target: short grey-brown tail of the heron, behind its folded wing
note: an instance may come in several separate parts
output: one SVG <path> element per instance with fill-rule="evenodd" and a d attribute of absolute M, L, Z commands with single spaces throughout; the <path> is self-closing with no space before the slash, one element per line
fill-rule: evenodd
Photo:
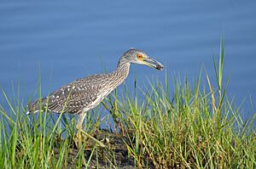
<path fill-rule="evenodd" d="M 26 105 L 27 111 L 26 114 L 32 114 L 32 113 L 37 113 L 39 110 L 44 110 L 44 107 L 47 104 L 47 99 L 38 99 L 34 102 L 28 103 Z"/>

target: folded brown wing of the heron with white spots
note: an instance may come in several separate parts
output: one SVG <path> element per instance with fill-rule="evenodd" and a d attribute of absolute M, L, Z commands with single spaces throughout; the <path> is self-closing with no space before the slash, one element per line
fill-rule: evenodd
<path fill-rule="evenodd" d="M 53 112 L 79 113 L 90 110 L 108 82 L 105 75 L 89 76 L 71 82 L 49 95 L 48 110 Z"/>

